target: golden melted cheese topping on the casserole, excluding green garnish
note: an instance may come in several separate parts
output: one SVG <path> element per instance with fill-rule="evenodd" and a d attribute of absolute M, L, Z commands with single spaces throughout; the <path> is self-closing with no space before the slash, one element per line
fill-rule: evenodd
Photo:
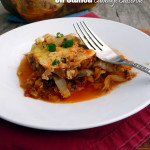
<path fill-rule="evenodd" d="M 73 39 L 73 46 L 64 48 L 62 45 L 63 41 L 71 39 Z M 56 51 L 49 52 L 46 46 L 47 43 L 55 44 Z M 36 43 L 33 44 L 31 51 L 27 55 L 33 56 L 45 69 L 76 68 L 80 67 L 83 60 L 95 55 L 93 50 L 84 49 L 79 44 L 83 43 L 74 34 L 69 34 L 61 38 L 46 34 L 36 39 Z M 60 61 L 59 65 L 52 65 L 55 59 Z"/>

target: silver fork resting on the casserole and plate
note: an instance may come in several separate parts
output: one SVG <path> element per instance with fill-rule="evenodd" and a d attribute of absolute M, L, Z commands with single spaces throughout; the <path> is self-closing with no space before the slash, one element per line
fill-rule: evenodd
<path fill-rule="evenodd" d="M 140 64 L 127 61 L 116 54 L 108 45 L 106 45 L 84 21 L 73 24 L 77 34 L 89 49 L 94 49 L 96 56 L 104 62 L 112 64 L 122 64 L 135 67 L 150 75 L 150 69 Z"/>

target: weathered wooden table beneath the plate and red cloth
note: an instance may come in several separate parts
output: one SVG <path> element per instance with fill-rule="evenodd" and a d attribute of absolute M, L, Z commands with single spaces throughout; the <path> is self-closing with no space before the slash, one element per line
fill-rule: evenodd
<path fill-rule="evenodd" d="M 135 28 L 150 29 L 150 0 L 143 0 L 142 4 L 117 3 L 114 7 L 111 7 L 111 3 L 97 4 L 90 11 L 104 19 L 125 23 Z M 24 25 L 7 21 L 9 15 L 0 2 L 0 35 Z M 138 150 L 150 150 L 150 140 L 140 146 Z"/>

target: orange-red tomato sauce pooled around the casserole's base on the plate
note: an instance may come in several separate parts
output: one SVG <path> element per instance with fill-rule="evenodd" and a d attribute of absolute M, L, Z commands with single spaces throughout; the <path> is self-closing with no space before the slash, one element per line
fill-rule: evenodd
<path fill-rule="evenodd" d="M 29 76 L 33 73 L 30 64 L 26 57 L 24 57 L 20 63 L 20 66 L 17 71 L 17 75 L 19 77 L 20 86 L 23 88 L 24 91 L 26 91 L 25 82 L 29 78 Z M 95 89 L 94 84 L 98 84 L 99 88 Z M 112 88 L 116 87 L 118 83 L 111 84 Z M 85 100 L 91 100 L 93 98 L 100 97 L 106 93 L 102 92 L 103 83 L 88 83 L 85 87 L 82 87 L 80 90 L 75 90 L 72 92 L 71 96 L 68 98 L 62 98 L 60 95 L 56 95 L 49 99 L 41 99 L 47 102 L 53 102 L 53 103 L 75 103 L 75 102 L 81 102 Z M 29 96 L 30 97 L 30 96 Z M 33 97 L 34 98 L 34 97 Z M 39 98 L 37 98 L 39 99 Z"/>

